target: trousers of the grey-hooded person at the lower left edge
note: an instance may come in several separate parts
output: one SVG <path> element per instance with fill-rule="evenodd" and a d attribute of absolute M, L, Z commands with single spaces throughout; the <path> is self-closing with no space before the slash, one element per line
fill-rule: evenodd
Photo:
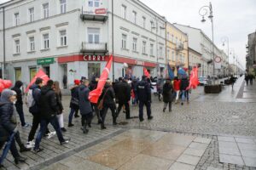
<path fill-rule="evenodd" d="M 0 165 L 3 163 L 3 160 L 5 159 L 5 157 L 7 156 L 9 150 L 11 151 L 12 155 L 14 156 L 14 158 L 20 156 L 19 152 L 16 148 L 16 144 L 15 144 L 15 134 L 12 134 L 11 136 L 9 136 L 9 141 L 6 144 L 6 146 L 3 149 L 3 154 L 0 157 Z M 0 141 L 0 150 L 3 148 L 3 145 L 5 144 L 6 141 Z"/>

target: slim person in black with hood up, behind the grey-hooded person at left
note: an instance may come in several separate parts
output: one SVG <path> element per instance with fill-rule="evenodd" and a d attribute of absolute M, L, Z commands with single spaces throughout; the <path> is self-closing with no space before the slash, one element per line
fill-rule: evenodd
<path fill-rule="evenodd" d="M 15 82 L 15 87 L 12 88 L 12 90 L 14 90 L 17 94 L 17 101 L 15 103 L 15 107 L 16 107 L 16 111 L 20 116 L 21 127 L 29 127 L 29 125 L 25 122 L 25 117 L 24 117 L 22 92 L 20 90 L 22 85 L 23 85 L 23 82 L 17 81 Z"/>

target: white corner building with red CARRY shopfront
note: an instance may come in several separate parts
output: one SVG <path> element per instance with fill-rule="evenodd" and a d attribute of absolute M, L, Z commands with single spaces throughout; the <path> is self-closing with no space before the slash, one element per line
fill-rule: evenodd
<path fill-rule="evenodd" d="M 141 77 L 143 67 L 158 76 L 166 65 L 166 20 L 137 0 L 11 0 L 0 23 L 1 68 L 12 81 L 27 84 L 39 68 L 68 84 L 98 77 L 109 54 L 114 79 Z"/>

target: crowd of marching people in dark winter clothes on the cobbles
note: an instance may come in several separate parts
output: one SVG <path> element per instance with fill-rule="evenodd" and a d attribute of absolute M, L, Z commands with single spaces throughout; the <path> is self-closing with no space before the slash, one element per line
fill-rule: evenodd
<path fill-rule="evenodd" d="M 96 116 L 102 130 L 106 129 L 105 119 L 108 109 L 112 113 L 113 125 L 118 124 L 117 120 L 122 110 L 125 112 L 126 119 L 137 118 L 137 116 L 131 116 L 131 105 L 138 105 L 138 118 L 140 122 L 144 121 L 144 106 L 146 107 L 148 120 L 153 119 L 151 115 L 152 79 L 146 76 L 143 76 L 141 80 L 138 78 L 119 77 L 118 80 L 112 82 L 108 79 L 98 102 L 96 104 L 90 103 L 90 91 L 97 88 L 98 81 L 99 78 L 96 77 L 93 77 L 90 82 L 85 77 L 74 81 L 74 85 L 70 88 L 71 99 L 68 127 L 75 126 L 73 124 L 73 117 L 79 117 L 80 113 L 81 130 L 83 133 L 89 132 L 94 116 Z M 175 101 L 175 104 L 177 104 L 178 100 L 181 99 L 181 105 L 183 105 L 185 100 L 189 103 L 189 90 L 187 89 L 189 80 L 187 77 L 180 79 L 175 77 L 173 83 L 170 78 L 160 82 L 158 87 L 161 89 L 159 93 L 164 101 L 163 112 L 166 111 L 167 106 L 168 111 L 172 111 L 172 101 Z M 43 137 L 49 139 L 56 134 L 60 144 L 67 144 L 70 141 L 70 139 L 64 139 L 62 135 L 67 129 L 64 126 L 64 108 L 61 103 L 59 82 L 49 80 L 44 85 L 43 79 L 37 78 L 26 94 L 26 105 L 32 114 L 32 125 L 26 144 L 21 142 L 15 119 L 16 113 L 20 116 L 21 127 L 30 127 L 24 118 L 21 87 L 22 82 L 15 82 L 15 87 L 4 89 L 0 98 L 0 150 L 9 141 L 9 148 L 15 158 L 15 163 L 26 161 L 25 157 L 20 156 L 15 143 L 19 144 L 20 152 L 33 150 L 38 153 L 43 150 L 40 148 L 40 142 Z M 54 132 L 49 131 L 49 124 L 55 129 Z M 40 128 L 38 129 L 39 125 Z M 12 134 L 15 136 L 14 139 L 11 139 Z M 3 162 L 3 158 L 1 159 L 0 164 Z"/>

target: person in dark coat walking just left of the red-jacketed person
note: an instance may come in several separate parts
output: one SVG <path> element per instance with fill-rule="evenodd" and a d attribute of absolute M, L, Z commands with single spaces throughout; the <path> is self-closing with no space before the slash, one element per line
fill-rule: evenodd
<path fill-rule="evenodd" d="M 164 100 L 164 109 L 163 112 L 166 111 L 166 107 L 169 104 L 169 112 L 172 111 L 172 80 L 170 78 L 166 78 L 166 83 L 163 86 L 163 100 Z"/>

